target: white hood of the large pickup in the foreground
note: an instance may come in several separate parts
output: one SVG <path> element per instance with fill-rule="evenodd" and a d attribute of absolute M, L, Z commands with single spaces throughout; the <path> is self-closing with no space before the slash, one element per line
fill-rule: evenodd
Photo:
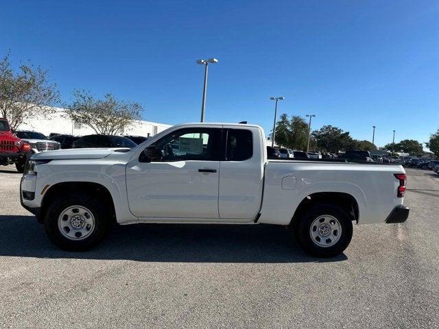
<path fill-rule="evenodd" d="M 31 160 L 74 160 L 74 159 L 101 159 L 112 153 L 125 153 L 128 148 L 108 148 L 108 149 L 59 149 L 56 151 L 45 151 L 34 154 Z"/>

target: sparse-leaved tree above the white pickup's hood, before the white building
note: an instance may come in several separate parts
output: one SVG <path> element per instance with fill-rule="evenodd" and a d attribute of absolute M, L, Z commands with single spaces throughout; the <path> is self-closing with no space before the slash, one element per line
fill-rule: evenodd
<path fill-rule="evenodd" d="M 91 127 L 97 134 L 121 134 L 132 121 L 141 119 L 143 108 L 139 103 L 119 101 L 111 94 L 95 99 L 84 90 L 75 90 L 73 96 L 67 116 L 75 123 Z"/>

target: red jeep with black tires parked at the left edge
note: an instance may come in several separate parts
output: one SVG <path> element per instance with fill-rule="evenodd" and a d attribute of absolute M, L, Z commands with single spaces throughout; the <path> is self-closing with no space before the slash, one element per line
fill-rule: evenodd
<path fill-rule="evenodd" d="M 0 164 L 15 163 L 16 170 L 23 173 L 30 152 L 30 144 L 23 143 L 11 130 L 8 120 L 0 118 Z"/>

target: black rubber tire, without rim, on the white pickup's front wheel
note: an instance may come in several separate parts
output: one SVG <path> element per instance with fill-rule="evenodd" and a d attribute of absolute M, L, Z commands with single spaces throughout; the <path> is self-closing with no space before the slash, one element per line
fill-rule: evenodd
<path fill-rule="evenodd" d="M 55 245 L 71 252 L 85 251 L 95 247 L 104 239 L 111 223 L 111 214 L 103 205 L 102 200 L 85 193 L 69 193 L 52 199 L 43 215 L 47 236 Z M 60 232 L 58 217 L 71 206 L 82 206 L 90 210 L 95 219 L 94 227 L 91 232 L 87 232 L 85 239 L 71 240 Z"/>

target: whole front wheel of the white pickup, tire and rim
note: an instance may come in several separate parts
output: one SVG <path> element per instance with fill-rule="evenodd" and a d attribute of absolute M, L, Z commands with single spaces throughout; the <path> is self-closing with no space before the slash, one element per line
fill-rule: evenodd
<path fill-rule="evenodd" d="M 47 236 L 64 250 L 91 249 L 104 239 L 110 226 L 110 213 L 102 204 L 82 193 L 51 200 L 44 218 Z"/>

